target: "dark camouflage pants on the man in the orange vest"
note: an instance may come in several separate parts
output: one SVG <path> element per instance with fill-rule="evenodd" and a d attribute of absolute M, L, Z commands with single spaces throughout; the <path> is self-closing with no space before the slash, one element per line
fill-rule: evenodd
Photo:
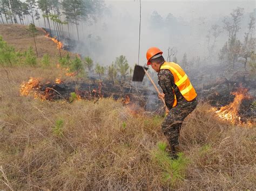
<path fill-rule="evenodd" d="M 190 114 L 197 106 L 197 100 L 178 104 L 177 107 L 172 108 L 169 114 L 165 117 L 162 124 L 162 130 L 166 136 L 173 153 L 175 153 L 175 145 L 179 144 L 179 131 L 181 125 L 188 114 Z"/>

